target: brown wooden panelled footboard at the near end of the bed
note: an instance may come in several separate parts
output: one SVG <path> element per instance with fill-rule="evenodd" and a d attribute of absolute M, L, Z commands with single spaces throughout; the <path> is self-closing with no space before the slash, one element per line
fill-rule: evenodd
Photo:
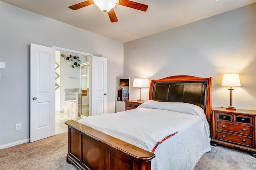
<path fill-rule="evenodd" d="M 155 154 L 73 120 L 66 161 L 83 170 L 150 170 Z"/>

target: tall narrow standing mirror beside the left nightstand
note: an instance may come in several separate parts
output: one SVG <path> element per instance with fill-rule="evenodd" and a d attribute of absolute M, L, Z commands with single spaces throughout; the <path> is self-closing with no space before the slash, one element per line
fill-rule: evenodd
<path fill-rule="evenodd" d="M 124 111 L 124 101 L 130 99 L 130 77 L 116 77 L 116 112 Z"/>

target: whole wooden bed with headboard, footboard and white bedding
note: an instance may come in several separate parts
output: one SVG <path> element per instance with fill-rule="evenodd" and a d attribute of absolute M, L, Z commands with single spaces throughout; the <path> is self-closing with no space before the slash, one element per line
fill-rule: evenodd
<path fill-rule="evenodd" d="M 151 80 L 136 109 L 68 125 L 66 161 L 87 170 L 194 169 L 210 151 L 212 78 Z"/>

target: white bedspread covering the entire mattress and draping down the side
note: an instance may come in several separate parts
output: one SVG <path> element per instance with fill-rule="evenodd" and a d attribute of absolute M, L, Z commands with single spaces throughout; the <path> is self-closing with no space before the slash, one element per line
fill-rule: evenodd
<path fill-rule="evenodd" d="M 104 120 L 101 118 L 97 120 L 97 117 L 104 117 L 102 118 Z M 166 131 L 170 130 L 171 133 L 178 131 L 176 135 L 166 139 L 156 148 L 154 152 L 156 158 L 152 160 L 153 170 L 192 170 L 200 157 L 205 152 L 210 151 L 209 125 L 203 109 L 199 106 L 186 103 L 156 102 L 150 100 L 141 104 L 137 109 L 90 116 L 78 122 L 92 127 L 91 121 L 94 121 L 96 127 L 93 128 L 97 129 L 97 126 L 100 125 L 102 121 L 104 122 L 105 118 L 112 119 L 111 117 L 117 117 L 116 121 L 114 121 L 115 123 L 108 124 L 106 128 L 115 129 L 115 133 L 112 134 L 112 136 L 121 136 L 117 138 L 121 140 L 125 138 L 124 141 L 141 148 L 144 147 L 144 141 L 145 139 L 149 139 L 148 137 L 144 136 L 145 139 L 134 140 L 133 137 L 130 137 L 130 134 L 124 135 L 123 132 L 128 129 L 133 129 L 133 132 L 129 131 L 129 133 L 136 134 L 136 131 L 149 133 L 146 132 L 148 127 L 144 128 L 146 125 L 152 126 L 150 131 L 151 133 L 154 132 L 154 135 L 157 135 L 158 131 L 162 131 L 159 128 L 166 129 Z M 119 119 L 130 121 L 119 124 L 119 121 L 117 121 Z M 136 124 L 136 128 L 130 128 L 133 125 L 132 121 Z M 158 130 L 155 130 L 155 128 Z M 98 130 L 110 135 L 105 131 L 105 127 L 101 127 Z M 119 134 L 118 131 L 120 130 L 122 133 Z M 166 135 L 165 132 L 161 134 Z M 160 138 L 154 139 L 153 143 L 159 141 Z M 151 152 L 151 148 L 152 146 L 148 147 L 148 149 L 143 149 Z"/>

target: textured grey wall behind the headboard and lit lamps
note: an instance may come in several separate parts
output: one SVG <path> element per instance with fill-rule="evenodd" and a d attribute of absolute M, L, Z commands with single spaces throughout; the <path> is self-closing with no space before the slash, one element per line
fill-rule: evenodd
<path fill-rule="evenodd" d="M 256 110 L 256 3 L 124 43 L 124 74 L 131 84 L 140 77 L 211 76 L 212 106 L 228 107 L 228 87 L 221 86 L 227 73 L 240 74 L 234 106 Z M 139 98 L 138 88 L 130 90 L 131 99 Z"/>

